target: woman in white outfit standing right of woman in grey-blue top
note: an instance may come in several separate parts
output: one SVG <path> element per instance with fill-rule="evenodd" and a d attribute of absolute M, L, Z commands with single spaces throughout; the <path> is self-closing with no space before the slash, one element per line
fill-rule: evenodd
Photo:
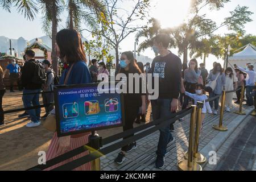
<path fill-rule="evenodd" d="M 226 91 L 236 90 L 237 89 L 237 77 L 233 74 L 233 69 L 228 67 L 225 70 L 226 76 Z M 230 108 L 232 107 L 234 93 L 226 93 L 226 111 L 230 112 Z"/>

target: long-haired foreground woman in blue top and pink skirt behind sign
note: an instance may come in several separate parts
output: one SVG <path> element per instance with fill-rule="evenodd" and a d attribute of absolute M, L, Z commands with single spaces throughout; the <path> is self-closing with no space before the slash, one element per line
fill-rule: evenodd
<path fill-rule="evenodd" d="M 85 64 L 86 57 L 81 36 L 77 31 L 68 29 L 59 31 L 56 36 L 55 49 L 57 56 L 68 65 L 68 68 L 64 69 L 63 74 L 60 77 L 60 85 L 86 84 L 92 82 L 89 69 Z M 51 144 L 49 145 L 46 157 L 47 160 L 56 158 L 56 156 L 85 145 L 89 142 L 88 137 L 89 133 L 68 137 L 57 137 L 57 133 L 55 132 Z M 47 168 L 47 170 L 62 166 L 65 163 L 81 158 L 87 154 L 88 152 L 82 152 L 64 162 Z M 90 163 L 84 164 L 75 170 L 90 170 Z"/>

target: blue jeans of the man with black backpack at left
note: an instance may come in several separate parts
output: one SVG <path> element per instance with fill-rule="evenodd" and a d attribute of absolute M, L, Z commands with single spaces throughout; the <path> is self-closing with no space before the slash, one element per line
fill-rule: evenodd
<path fill-rule="evenodd" d="M 38 93 L 38 92 L 41 92 L 41 89 L 23 90 L 23 94 Z M 40 103 L 39 103 L 39 93 L 38 94 L 23 95 L 22 100 L 23 100 L 23 105 L 24 105 L 25 108 L 40 105 Z M 30 115 L 32 122 L 39 122 L 40 114 L 41 114 L 41 108 L 27 110 L 27 113 Z"/>

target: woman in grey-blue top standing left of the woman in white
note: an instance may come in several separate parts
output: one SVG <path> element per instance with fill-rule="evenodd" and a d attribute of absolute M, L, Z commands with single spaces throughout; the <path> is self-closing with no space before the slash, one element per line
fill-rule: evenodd
<path fill-rule="evenodd" d="M 212 92 L 209 93 L 210 98 L 220 95 L 223 90 L 225 90 L 226 86 L 226 77 L 225 74 L 223 74 L 223 69 L 221 67 L 220 63 L 214 64 L 213 70 L 210 72 L 207 81 L 214 81 L 216 80 L 216 87 Z M 218 102 L 220 98 L 216 98 L 213 101 L 210 101 L 210 107 L 213 108 L 213 102 L 214 102 L 214 110 L 213 114 L 218 114 Z"/>

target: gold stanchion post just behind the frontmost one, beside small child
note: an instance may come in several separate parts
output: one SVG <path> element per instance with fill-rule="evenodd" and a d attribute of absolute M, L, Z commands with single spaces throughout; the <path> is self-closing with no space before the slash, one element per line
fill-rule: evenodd
<path fill-rule="evenodd" d="M 193 151 L 193 157 L 195 159 L 196 163 L 202 164 L 205 163 L 207 158 L 200 152 L 198 152 L 199 147 L 199 139 L 200 139 L 200 132 L 201 132 L 201 114 L 202 109 L 204 107 L 204 102 L 197 102 L 197 119 L 196 119 L 196 134 L 195 134 L 195 144 L 194 144 L 194 151 Z M 188 152 L 185 153 L 185 159 L 188 159 Z"/>

